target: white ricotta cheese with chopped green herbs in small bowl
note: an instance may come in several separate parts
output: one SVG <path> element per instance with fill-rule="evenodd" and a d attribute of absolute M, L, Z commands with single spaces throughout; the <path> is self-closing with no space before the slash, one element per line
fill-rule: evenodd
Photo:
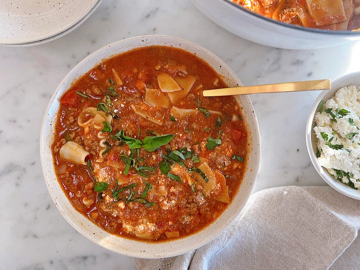
<path fill-rule="evenodd" d="M 338 89 L 314 115 L 317 160 L 335 178 L 360 187 L 360 85 Z"/>

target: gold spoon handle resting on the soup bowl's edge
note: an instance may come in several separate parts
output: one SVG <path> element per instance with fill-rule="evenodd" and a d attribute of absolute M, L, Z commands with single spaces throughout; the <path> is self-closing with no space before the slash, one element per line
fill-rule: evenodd
<path fill-rule="evenodd" d="M 330 88 L 331 88 L 331 81 L 329 79 L 318 79 L 318 80 L 294 81 L 294 82 L 283 82 L 283 83 L 204 90 L 202 91 L 202 94 L 203 96 L 223 96 L 223 95 L 252 94 L 252 93 L 328 90 Z"/>

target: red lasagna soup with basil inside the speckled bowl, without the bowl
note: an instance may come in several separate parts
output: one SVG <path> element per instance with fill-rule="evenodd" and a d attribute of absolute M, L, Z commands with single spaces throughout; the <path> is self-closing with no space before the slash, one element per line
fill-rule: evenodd
<path fill-rule="evenodd" d="M 166 240 L 214 221 L 234 197 L 248 134 L 203 60 L 168 46 L 103 60 L 60 98 L 52 144 L 73 207 L 104 230 Z"/>

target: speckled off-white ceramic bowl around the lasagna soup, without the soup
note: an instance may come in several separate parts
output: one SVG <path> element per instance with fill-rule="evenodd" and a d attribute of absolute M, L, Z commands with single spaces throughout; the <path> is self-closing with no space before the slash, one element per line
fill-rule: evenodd
<path fill-rule="evenodd" d="M 103 58 L 108 58 L 114 54 L 136 47 L 150 45 L 173 46 L 196 53 L 198 57 L 204 59 L 217 73 L 222 75 L 229 86 L 235 86 L 236 84 L 241 85 L 235 73 L 216 55 L 199 45 L 177 37 L 148 35 L 111 43 L 93 52 L 79 62 L 57 87 L 50 99 L 43 118 L 40 133 L 40 155 L 42 170 L 50 195 L 58 210 L 77 231 L 93 242 L 124 255 L 159 258 L 185 253 L 209 242 L 222 232 L 239 214 L 251 193 L 257 175 L 260 158 L 260 136 L 251 101 L 247 95 L 242 95 L 238 97 L 238 101 L 242 104 L 244 120 L 249 131 L 249 149 L 251 150 L 249 152 L 248 167 L 243 182 L 232 202 L 213 223 L 197 233 L 166 242 L 136 241 L 110 234 L 77 212 L 62 191 L 53 167 L 51 143 L 53 140 L 56 114 L 59 108 L 59 98 L 69 88 L 73 80 L 86 73 Z"/>

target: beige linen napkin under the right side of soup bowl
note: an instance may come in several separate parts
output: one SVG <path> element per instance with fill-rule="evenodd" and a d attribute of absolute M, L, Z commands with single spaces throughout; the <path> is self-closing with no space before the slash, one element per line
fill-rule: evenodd
<path fill-rule="evenodd" d="M 208 244 L 134 262 L 138 269 L 156 270 L 360 269 L 359 228 L 360 201 L 329 186 L 270 188 L 252 194 L 236 220 Z"/>

